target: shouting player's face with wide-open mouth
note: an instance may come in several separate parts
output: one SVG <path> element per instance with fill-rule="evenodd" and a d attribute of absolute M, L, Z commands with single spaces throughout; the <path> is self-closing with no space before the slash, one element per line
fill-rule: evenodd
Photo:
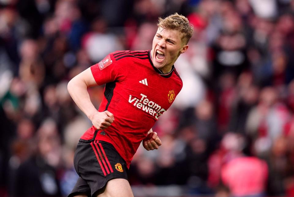
<path fill-rule="evenodd" d="M 163 73 L 171 71 L 172 65 L 179 55 L 186 52 L 188 45 L 182 41 L 182 33 L 177 30 L 159 27 L 152 43 L 153 65 Z"/>

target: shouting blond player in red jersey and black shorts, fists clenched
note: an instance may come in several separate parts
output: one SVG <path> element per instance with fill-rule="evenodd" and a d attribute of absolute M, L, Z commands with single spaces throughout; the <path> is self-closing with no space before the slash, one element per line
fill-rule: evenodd
<path fill-rule="evenodd" d="M 159 18 L 152 50 L 115 51 L 75 76 L 68 91 L 92 121 L 77 145 L 74 166 L 80 176 L 69 196 L 133 196 L 126 170 L 140 143 L 158 149 L 152 126 L 172 104 L 183 83 L 174 68 L 188 49 L 193 28 L 177 13 Z M 97 111 L 88 87 L 105 85 Z"/>

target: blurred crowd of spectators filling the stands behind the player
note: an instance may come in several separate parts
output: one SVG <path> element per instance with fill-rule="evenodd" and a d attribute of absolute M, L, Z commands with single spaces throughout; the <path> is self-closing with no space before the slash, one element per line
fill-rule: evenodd
<path fill-rule="evenodd" d="M 91 122 L 67 92 L 157 18 L 194 25 L 183 89 L 139 147 L 135 196 L 294 196 L 294 0 L 0 0 L 0 196 L 66 196 Z M 164 85 L 164 84 L 162 84 Z M 89 89 L 98 108 L 104 87 Z"/>

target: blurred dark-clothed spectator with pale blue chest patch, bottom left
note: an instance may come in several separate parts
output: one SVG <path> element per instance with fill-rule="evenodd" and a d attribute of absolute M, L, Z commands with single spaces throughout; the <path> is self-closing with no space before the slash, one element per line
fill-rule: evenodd
<path fill-rule="evenodd" d="M 61 147 L 55 122 L 44 121 L 36 137 L 36 153 L 17 169 L 14 195 L 60 196 L 56 173 Z"/>

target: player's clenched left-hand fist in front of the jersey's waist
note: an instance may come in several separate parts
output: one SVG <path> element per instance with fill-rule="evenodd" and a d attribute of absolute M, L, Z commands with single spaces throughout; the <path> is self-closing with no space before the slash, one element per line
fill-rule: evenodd
<path fill-rule="evenodd" d="M 111 123 L 113 123 L 114 116 L 109 111 L 97 111 L 91 116 L 90 120 L 92 121 L 92 124 L 96 129 L 104 130 L 108 128 L 111 125 Z"/>

